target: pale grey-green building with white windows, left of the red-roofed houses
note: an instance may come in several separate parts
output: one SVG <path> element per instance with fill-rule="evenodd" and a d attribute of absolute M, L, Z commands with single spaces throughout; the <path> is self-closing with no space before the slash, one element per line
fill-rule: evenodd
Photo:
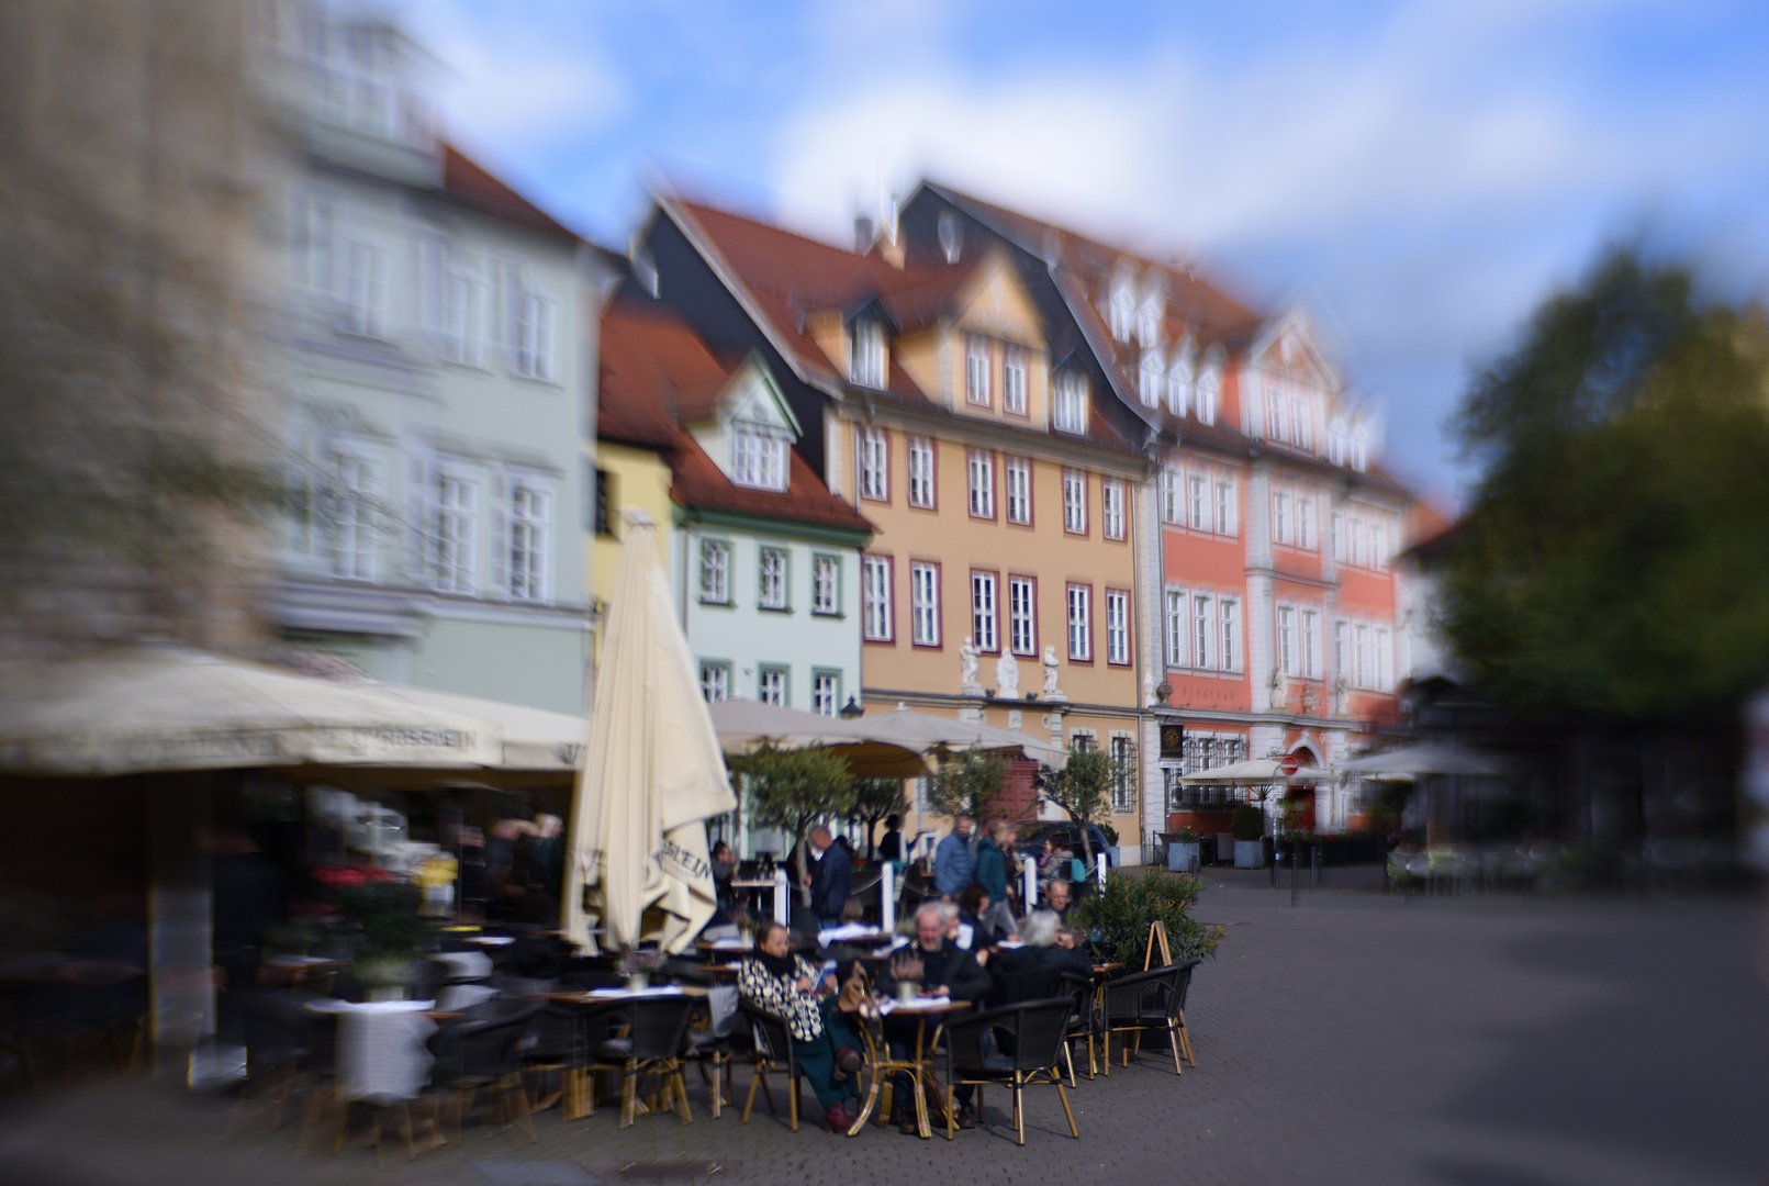
<path fill-rule="evenodd" d="M 582 712 L 600 257 L 439 136 L 393 27 L 271 32 L 304 159 L 276 625 L 391 683 Z"/>

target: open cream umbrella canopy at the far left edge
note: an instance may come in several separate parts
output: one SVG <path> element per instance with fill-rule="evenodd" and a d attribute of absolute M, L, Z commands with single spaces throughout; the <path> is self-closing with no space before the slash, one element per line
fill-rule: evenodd
<path fill-rule="evenodd" d="M 16 673 L 0 770 L 119 775 L 234 766 L 492 766 L 497 724 L 370 689 L 134 643 Z"/>

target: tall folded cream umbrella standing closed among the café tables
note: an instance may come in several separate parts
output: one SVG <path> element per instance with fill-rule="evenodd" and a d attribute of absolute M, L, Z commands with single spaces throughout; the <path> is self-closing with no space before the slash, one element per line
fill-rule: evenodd
<path fill-rule="evenodd" d="M 630 517 L 603 632 L 571 811 L 566 936 L 594 949 L 584 889 L 600 887 L 612 942 L 656 938 L 681 951 L 716 908 L 706 818 L 736 807 L 736 797 L 649 517 Z M 642 931 L 651 906 L 663 920 Z"/>

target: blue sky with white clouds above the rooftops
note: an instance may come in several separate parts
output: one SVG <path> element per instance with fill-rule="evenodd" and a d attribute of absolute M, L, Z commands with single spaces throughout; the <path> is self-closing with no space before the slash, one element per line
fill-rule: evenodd
<path fill-rule="evenodd" d="M 409 0 L 449 135 L 624 250 L 649 186 L 835 243 L 936 179 L 1297 303 L 1444 510 L 1474 368 L 1615 243 L 1769 294 L 1769 5 Z"/>

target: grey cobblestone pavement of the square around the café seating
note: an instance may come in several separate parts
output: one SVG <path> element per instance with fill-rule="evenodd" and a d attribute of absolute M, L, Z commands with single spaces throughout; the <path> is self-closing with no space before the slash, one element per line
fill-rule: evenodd
<path fill-rule="evenodd" d="M 1406 901 L 1359 880 L 1330 871 L 1291 910 L 1288 882 L 1272 892 L 1263 874 L 1212 871 L 1198 917 L 1226 938 L 1187 1009 L 1199 1066 L 1176 1078 L 1155 1051 L 1083 1082 L 1079 1142 L 1049 1089 L 1028 1094 L 1019 1149 L 1003 1092 L 992 1131 L 946 1144 L 895 1129 L 842 1140 L 814 1122 L 794 1135 L 761 1105 L 748 1126 L 732 1112 L 711 1122 L 695 1087 L 686 1128 L 550 1112 L 522 1151 L 469 1131 L 462 1149 L 377 1165 L 364 1149 L 297 1159 L 295 1126 L 228 1136 L 226 1103 L 136 1082 L 0 1117 L 0 1181 L 538 1186 L 647 1181 L 621 1175 L 630 1163 L 656 1181 L 646 1165 L 681 1161 L 716 1161 L 715 1182 L 1769 1181 L 1755 901 Z"/>

